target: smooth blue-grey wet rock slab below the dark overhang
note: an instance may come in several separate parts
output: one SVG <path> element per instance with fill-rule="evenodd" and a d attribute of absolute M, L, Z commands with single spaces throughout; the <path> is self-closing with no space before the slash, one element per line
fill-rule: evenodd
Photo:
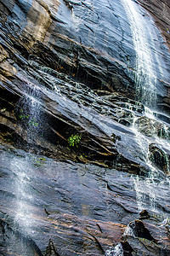
<path fill-rule="evenodd" d="M 134 251 L 140 250 L 140 243 L 145 244 L 144 250 L 150 255 L 161 255 L 157 253 L 161 248 L 162 252 L 169 252 L 168 195 L 165 199 L 158 193 L 157 213 L 150 212 L 150 218 L 133 221 L 139 218 L 139 209 L 130 175 L 4 147 L 0 154 L 4 255 L 17 255 L 17 244 L 27 250 L 24 255 L 30 249 L 28 255 L 104 255 L 123 236 Z M 161 186 L 161 191 L 166 189 L 166 183 Z M 10 240 L 8 247 L 11 236 L 14 242 Z M 135 255 L 140 255 L 138 252 Z"/>

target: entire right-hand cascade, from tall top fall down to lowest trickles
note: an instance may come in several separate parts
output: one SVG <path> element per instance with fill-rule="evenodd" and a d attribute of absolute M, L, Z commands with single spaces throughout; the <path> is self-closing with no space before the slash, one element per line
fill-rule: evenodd
<path fill-rule="evenodd" d="M 122 0 L 122 4 L 129 20 L 133 45 L 136 51 L 135 84 L 137 98 L 146 106 L 144 107 L 144 118 L 154 123 L 157 119 L 152 110 L 156 109 L 157 84 L 158 80 L 161 79 L 162 76 L 165 76 L 162 67 L 164 64 L 161 64 L 162 60 L 160 60 L 160 49 L 157 47 L 160 35 L 150 15 L 147 14 L 136 1 Z M 136 190 L 139 210 L 149 208 L 156 212 L 155 199 L 159 197 L 161 183 L 166 182 L 167 177 L 164 177 L 164 181 L 158 181 L 161 170 L 157 166 L 153 166 L 153 163 L 150 161 L 150 140 L 141 133 L 138 119 L 139 117 L 135 116 L 135 113 L 133 113 L 132 130 L 141 148 L 141 155 L 143 155 L 144 161 L 150 171 L 148 177 L 133 176 L 134 189 Z M 164 126 L 164 131 L 166 131 L 166 125 L 162 125 Z M 152 126 L 154 127 L 154 124 Z M 168 136 L 166 138 L 158 137 L 157 131 L 155 130 L 156 129 L 153 128 L 151 131 L 153 142 L 159 145 L 161 144 L 162 151 L 164 150 L 163 148 L 167 148 L 168 150 L 168 148 L 170 148 Z M 165 155 L 167 154 L 165 153 Z M 170 172 L 168 157 L 166 172 Z M 157 181 L 159 188 L 157 187 Z"/>

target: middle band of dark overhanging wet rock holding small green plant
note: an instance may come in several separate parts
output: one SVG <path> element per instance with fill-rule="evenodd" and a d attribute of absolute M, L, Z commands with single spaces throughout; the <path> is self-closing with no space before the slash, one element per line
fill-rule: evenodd
<path fill-rule="evenodd" d="M 48 83 L 54 78 L 43 72 L 45 75 Z M 66 157 L 124 172 L 147 173 L 145 149 L 140 147 L 139 134 L 133 127 L 138 125 L 151 148 L 155 140 L 164 143 L 169 137 L 169 124 L 146 118 L 144 106 L 138 102 L 116 93 L 102 95 L 101 91 L 99 95 L 84 84 L 69 82 L 53 79 L 54 90 L 40 88 L 27 79 L 17 86 L 8 84 L 10 92 L 2 90 L 3 140 L 21 148 L 26 148 L 27 143 L 27 148 L 34 147 L 60 160 Z M 8 96 L 14 102 L 8 102 Z M 164 145 L 161 150 L 168 161 L 167 147 Z M 150 160 L 156 162 L 154 156 Z M 161 162 L 159 167 L 165 169 Z"/>

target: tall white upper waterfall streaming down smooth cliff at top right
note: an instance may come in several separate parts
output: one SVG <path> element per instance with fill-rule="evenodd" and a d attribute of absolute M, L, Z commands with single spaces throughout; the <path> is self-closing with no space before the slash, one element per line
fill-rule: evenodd
<path fill-rule="evenodd" d="M 159 56 L 156 51 L 156 27 L 150 16 L 133 0 L 122 0 L 132 32 L 136 51 L 135 82 L 137 98 L 144 105 L 153 108 L 156 105 L 156 64 L 162 73 Z"/>

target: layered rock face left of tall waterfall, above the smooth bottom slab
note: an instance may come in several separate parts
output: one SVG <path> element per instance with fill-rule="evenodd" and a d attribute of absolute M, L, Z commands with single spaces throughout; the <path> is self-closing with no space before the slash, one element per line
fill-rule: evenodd
<path fill-rule="evenodd" d="M 102 13 L 100 1 L 93 6 L 58 1 L 2 4 L 1 127 L 5 141 L 22 148 L 25 143 L 31 148 L 36 145 L 43 154 L 59 159 L 66 155 L 128 172 L 147 172 L 144 148 L 136 131 L 127 127 L 136 117 L 142 118 L 144 106 L 127 98 L 136 91 L 135 51 L 122 2 L 114 8 L 102 2 Z M 162 98 L 165 90 L 159 92 Z M 167 121 L 166 116 L 163 119 Z M 159 122 L 158 126 L 168 133 L 168 126 L 161 128 Z M 71 137 L 74 142 L 69 144 Z M 81 138 L 78 145 L 77 137 Z"/>

